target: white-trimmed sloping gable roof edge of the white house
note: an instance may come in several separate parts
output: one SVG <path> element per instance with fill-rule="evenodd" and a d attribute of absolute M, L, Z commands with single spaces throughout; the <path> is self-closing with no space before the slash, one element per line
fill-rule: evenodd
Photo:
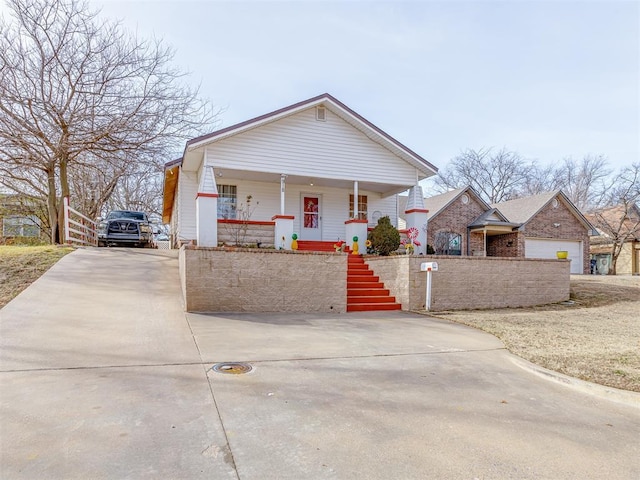
<path fill-rule="evenodd" d="M 187 142 L 183 158 L 185 158 L 189 154 L 189 152 L 204 147 L 210 143 L 217 142 L 223 138 L 237 135 L 253 128 L 257 128 L 267 123 L 275 122 L 276 120 L 280 120 L 282 118 L 294 115 L 302 110 L 307 110 L 311 107 L 319 105 L 323 105 L 329 111 L 342 118 L 342 120 L 361 131 L 370 140 L 385 147 L 409 164 L 414 165 L 416 168 L 423 171 L 426 176 L 431 176 L 438 171 L 438 169 L 425 158 L 421 157 L 416 152 L 400 143 L 388 133 L 376 127 L 373 123 L 369 122 L 363 116 L 351 110 L 344 103 L 340 102 L 328 93 L 323 93 L 322 95 L 318 95 L 317 97 L 303 100 L 302 102 L 289 105 L 288 107 L 284 107 L 265 115 L 252 118 L 245 122 L 231 125 L 230 127 L 226 127 L 221 130 L 216 130 L 215 132 L 209 133 L 207 135 L 193 138 Z"/>

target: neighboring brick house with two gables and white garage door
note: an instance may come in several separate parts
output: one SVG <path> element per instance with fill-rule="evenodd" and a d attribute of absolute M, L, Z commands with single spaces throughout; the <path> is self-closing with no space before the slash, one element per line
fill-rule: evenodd
<path fill-rule="evenodd" d="M 571 273 L 590 271 L 593 227 L 559 190 L 489 205 L 472 187 L 464 187 L 424 203 L 427 243 L 436 254 L 556 258 L 558 250 L 566 250 Z"/>

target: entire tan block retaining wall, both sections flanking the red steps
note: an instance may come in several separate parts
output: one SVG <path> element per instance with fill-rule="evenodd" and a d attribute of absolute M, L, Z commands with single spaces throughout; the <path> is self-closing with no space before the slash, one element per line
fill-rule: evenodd
<path fill-rule="evenodd" d="M 426 273 L 438 262 L 432 310 L 542 305 L 569 298 L 568 260 L 396 255 L 365 257 L 402 304 L 425 304 Z M 335 253 L 184 246 L 180 280 L 191 312 L 346 311 L 347 256 Z"/>

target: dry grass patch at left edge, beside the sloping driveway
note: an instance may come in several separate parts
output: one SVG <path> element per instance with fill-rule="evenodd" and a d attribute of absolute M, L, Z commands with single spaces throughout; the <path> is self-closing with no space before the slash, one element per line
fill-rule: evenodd
<path fill-rule="evenodd" d="M 0 246 L 0 308 L 72 251 L 56 246 Z"/>

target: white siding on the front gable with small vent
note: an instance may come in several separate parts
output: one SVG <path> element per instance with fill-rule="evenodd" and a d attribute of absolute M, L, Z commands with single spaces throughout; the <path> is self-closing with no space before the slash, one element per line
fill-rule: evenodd
<path fill-rule="evenodd" d="M 311 108 L 207 147 L 216 167 L 412 185 L 416 170 L 340 117 Z"/>

